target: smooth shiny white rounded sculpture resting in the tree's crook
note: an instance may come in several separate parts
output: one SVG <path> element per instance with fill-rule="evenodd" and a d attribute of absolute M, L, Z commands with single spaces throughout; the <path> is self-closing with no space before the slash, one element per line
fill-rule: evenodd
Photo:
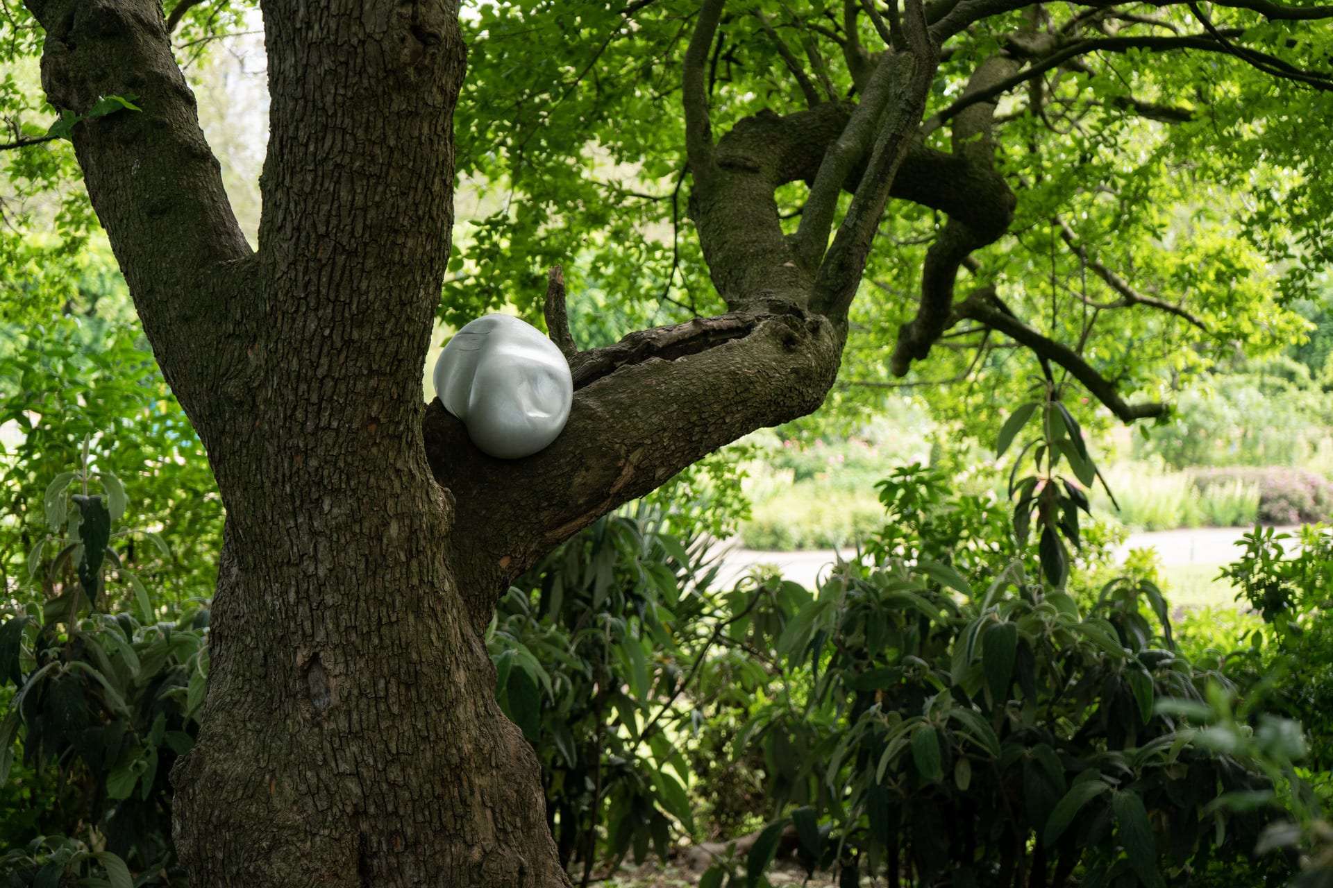
<path fill-rule="evenodd" d="M 435 391 L 492 457 L 528 457 L 556 439 L 575 399 L 556 343 L 508 314 L 487 314 L 449 339 L 435 365 Z"/>

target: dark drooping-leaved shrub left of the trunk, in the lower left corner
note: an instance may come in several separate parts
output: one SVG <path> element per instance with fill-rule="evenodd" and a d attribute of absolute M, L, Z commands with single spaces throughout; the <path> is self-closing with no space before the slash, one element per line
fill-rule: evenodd
<path fill-rule="evenodd" d="M 120 887 L 129 864 L 136 884 L 165 884 L 168 774 L 199 730 L 208 610 L 161 607 L 120 562 L 108 543 L 127 537 L 116 522 L 129 498 L 87 450 L 43 499 L 59 537 L 33 550 L 36 594 L 0 624 L 0 841 L 13 848 L 0 867 L 16 884 Z M 43 549 L 59 550 L 49 567 Z"/>

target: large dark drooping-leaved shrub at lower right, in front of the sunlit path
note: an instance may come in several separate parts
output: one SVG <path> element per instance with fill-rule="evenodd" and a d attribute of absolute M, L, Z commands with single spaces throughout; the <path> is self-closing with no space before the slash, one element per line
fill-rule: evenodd
<path fill-rule="evenodd" d="M 772 750 L 773 803 L 812 805 L 830 829 L 798 852 L 806 867 L 1156 885 L 1253 848 L 1270 813 L 1213 803 L 1272 777 L 1158 712 L 1204 706 L 1225 679 L 1176 648 L 1150 582 L 1109 583 L 1082 611 L 1032 579 L 1002 515 L 957 539 L 940 478 L 914 470 L 884 490 L 882 567 L 845 566 L 756 643 L 786 690 L 742 734 Z"/>

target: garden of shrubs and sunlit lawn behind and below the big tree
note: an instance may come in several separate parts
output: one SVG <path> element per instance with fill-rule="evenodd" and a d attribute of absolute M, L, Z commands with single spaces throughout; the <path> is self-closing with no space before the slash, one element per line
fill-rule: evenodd
<path fill-rule="evenodd" d="M 244 92 L 231 64 L 200 61 L 201 96 Z M 36 67 L 5 75 L 16 96 Z M 204 116 L 253 232 L 244 118 Z M 181 885 L 169 772 L 207 696 L 223 506 L 68 145 L 5 161 L 0 873 Z M 511 249 L 485 172 L 460 274 Z M 580 342 L 663 309 L 587 277 Z M 1333 286 L 1306 284 L 1272 341 L 1145 361 L 1173 410 L 1133 427 L 1026 355 L 986 383 L 868 381 L 853 355 L 821 411 L 520 578 L 487 644 L 572 881 L 1333 884 Z M 1240 545 L 1124 551 L 1194 527 Z M 856 556 L 721 582 L 737 545 Z"/>

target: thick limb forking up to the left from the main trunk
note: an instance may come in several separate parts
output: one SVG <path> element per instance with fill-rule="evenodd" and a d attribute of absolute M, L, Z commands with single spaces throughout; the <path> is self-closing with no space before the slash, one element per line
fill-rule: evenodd
<path fill-rule="evenodd" d="M 71 138 L 157 361 L 187 402 L 235 357 L 205 329 L 217 329 L 217 313 L 239 310 L 229 305 L 229 272 L 251 249 L 172 57 L 161 5 L 29 0 L 28 8 L 47 29 L 41 85 L 53 107 L 84 113 L 103 96 L 136 96 L 141 111 L 84 120 Z M 215 347 L 200 347 L 211 339 Z"/>

